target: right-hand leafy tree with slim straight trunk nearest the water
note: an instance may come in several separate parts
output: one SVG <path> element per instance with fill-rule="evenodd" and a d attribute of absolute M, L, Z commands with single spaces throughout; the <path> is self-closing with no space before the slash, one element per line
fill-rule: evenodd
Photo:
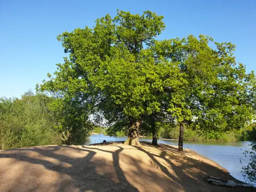
<path fill-rule="evenodd" d="M 246 74 L 245 66 L 235 61 L 235 45 L 213 42 L 204 35 L 159 41 L 156 45 L 157 54 L 180 63 L 186 82 L 169 94 L 168 111 L 180 125 L 179 150 L 183 149 L 186 124 L 199 124 L 194 127 L 199 127 L 202 134 L 218 137 L 250 123 L 253 108 L 249 89 L 254 75 Z"/>

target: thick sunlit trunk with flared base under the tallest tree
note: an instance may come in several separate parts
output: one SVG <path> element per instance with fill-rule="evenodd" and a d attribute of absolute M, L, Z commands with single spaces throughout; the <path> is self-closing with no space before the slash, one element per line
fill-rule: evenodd
<path fill-rule="evenodd" d="M 140 122 L 135 122 L 130 124 L 130 131 L 128 134 L 128 138 L 124 142 L 124 145 L 132 145 L 132 146 L 139 146 L 139 128 Z"/>

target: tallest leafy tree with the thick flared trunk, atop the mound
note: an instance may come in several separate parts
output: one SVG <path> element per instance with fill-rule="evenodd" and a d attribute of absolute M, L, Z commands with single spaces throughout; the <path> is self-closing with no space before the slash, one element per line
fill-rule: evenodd
<path fill-rule="evenodd" d="M 42 90 L 69 99 L 82 92 L 80 102 L 88 102 L 90 95 L 94 111 L 114 125 L 122 121 L 130 127 L 125 143 L 139 145 L 143 117 L 160 110 L 163 81 L 166 77 L 178 81 L 177 65 L 167 59 L 156 62 L 149 49 L 165 27 L 162 19 L 150 11 L 142 15 L 118 11 L 113 19 L 110 15 L 98 19 L 92 29 L 63 33 L 58 39 L 69 59 L 58 65 L 56 77 L 45 82 Z"/>

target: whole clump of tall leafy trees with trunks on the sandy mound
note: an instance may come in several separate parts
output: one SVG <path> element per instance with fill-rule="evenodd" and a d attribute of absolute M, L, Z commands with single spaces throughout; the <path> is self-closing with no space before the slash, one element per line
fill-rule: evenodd
<path fill-rule="evenodd" d="M 92 28 L 66 31 L 58 40 L 69 58 L 38 90 L 74 106 L 65 111 L 78 114 L 76 123 L 86 119 L 79 129 L 99 114 L 111 134 L 130 129 L 127 145 L 139 145 L 139 131 L 149 127 L 143 123 L 155 139 L 157 122 L 179 123 L 180 150 L 185 125 L 218 137 L 249 124 L 255 77 L 235 61 L 235 45 L 204 35 L 157 39 L 164 28 L 156 13 L 117 11 Z M 76 124 L 70 123 L 69 129 Z"/>

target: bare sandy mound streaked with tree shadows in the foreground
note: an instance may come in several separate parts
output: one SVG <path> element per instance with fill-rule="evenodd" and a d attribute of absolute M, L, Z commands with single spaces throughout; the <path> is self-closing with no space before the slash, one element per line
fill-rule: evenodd
<path fill-rule="evenodd" d="M 209 174 L 235 179 L 192 150 L 141 143 L 2 150 L 0 191 L 250 191 L 207 183 Z"/>

